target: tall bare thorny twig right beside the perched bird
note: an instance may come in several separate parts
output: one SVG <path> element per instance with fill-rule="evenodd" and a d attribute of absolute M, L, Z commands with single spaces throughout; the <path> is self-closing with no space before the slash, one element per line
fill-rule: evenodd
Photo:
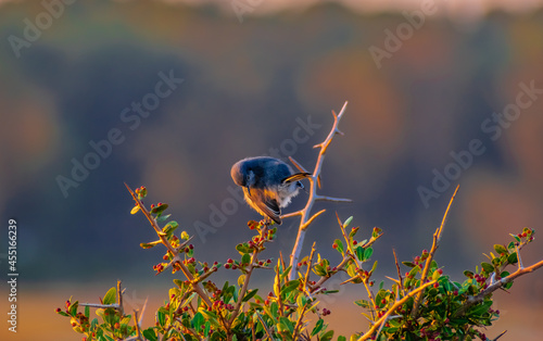
<path fill-rule="evenodd" d="M 333 202 L 350 202 L 351 200 L 349 199 L 340 199 L 340 198 L 331 198 L 331 197 L 325 197 L 325 195 L 318 195 L 317 194 L 317 186 L 320 188 L 320 171 L 323 168 L 323 162 L 325 161 L 325 154 L 328 149 L 328 146 L 330 146 L 330 142 L 332 141 L 333 137 L 336 134 L 343 135 L 338 128 L 339 122 L 341 117 L 343 117 L 343 114 L 345 113 L 348 102 L 343 104 L 343 108 L 341 109 L 339 114 L 336 114 L 336 112 L 332 111 L 333 115 L 333 125 L 328 134 L 328 137 L 319 144 L 315 146 L 314 148 L 320 148 L 320 151 L 318 153 L 317 162 L 315 164 L 315 169 L 313 171 L 313 174 L 311 177 L 308 177 L 310 180 L 310 198 L 307 199 L 307 203 L 305 204 L 305 207 L 296 213 L 293 214 L 288 214 L 283 215 L 283 218 L 287 216 L 294 216 L 294 215 L 301 215 L 301 220 L 300 220 L 300 227 L 298 229 L 298 236 L 296 236 L 296 241 L 294 243 L 294 248 L 292 249 L 292 253 L 290 255 L 290 265 L 292 268 L 290 269 L 289 278 L 292 280 L 294 279 L 295 275 L 298 274 L 298 260 L 300 258 L 300 253 L 302 252 L 302 245 L 303 241 L 305 238 L 305 229 L 313 223 L 313 220 L 320 215 L 321 213 L 325 212 L 325 210 L 314 214 L 313 216 L 311 215 L 311 210 L 313 209 L 313 205 L 315 202 L 318 201 L 333 201 Z M 300 169 L 301 172 L 307 172 L 305 168 L 298 163 L 294 159 L 289 157 L 290 161 L 294 164 L 294 166 Z"/>

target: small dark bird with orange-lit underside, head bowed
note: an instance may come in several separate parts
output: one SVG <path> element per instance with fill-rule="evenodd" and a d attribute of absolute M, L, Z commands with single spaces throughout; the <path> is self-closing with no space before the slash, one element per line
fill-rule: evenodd
<path fill-rule="evenodd" d="M 267 156 L 238 161 L 230 171 L 236 185 L 243 188 L 247 203 L 265 218 L 281 225 L 281 207 L 304 188 L 300 180 L 311 173 L 294 173 L 285 162 Z"/>

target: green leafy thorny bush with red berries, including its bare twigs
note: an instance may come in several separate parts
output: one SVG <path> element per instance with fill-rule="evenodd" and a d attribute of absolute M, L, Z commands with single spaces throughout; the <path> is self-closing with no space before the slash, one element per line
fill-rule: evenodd
<path fill-rule="evenodd" d="M 311 215 L 313 203 L 317 200 L 345 202 L 316 193 L 320 185 L 320 169 L 324 155 L 332 137 L 341 134 L 338 124 L 346 103 L 339 115 L 332 112 L 334 123 L 324 142 L 317 144 L 320 152 L 310 180 L 310 197 L 306 206 L 288 216 L 301 216 L 299 235 L 290 255 L 290 264 L 282 256 L 277 261 L 262 256 L 267 243 L 276 238 L 277 228 L 266 222 L 249 222 L 249 228 L 255 235 L 248 241 L 236 245 L 239 253 L 224 264 L 209 264 L 197 260 L 197 252 L 190 243 L 191 237 L 182 231 L 176 235 L 179 225 L 169 220 L 165 214 L 168 205 L 152 204 L 147 209 L 141 199 L 147 189 L 140 187 L 128 191 L 136 205 L 132 214 L 142 212 L 159 239 L 141 243 L 141 248 L 150 249 L 159 244 L 166 248 L 163 261 L 153 269 L 156 274 L 164 270 L 182 273 L 175 279 L 169 289 L 168 300 L 155 312 L 154 326 L 141 326 L 141 313 L 126 314 L 123 305 L 121 281 L 111 288 L 98 304 L 79 304 L 67 300 L 65 308 L 56 308 L 56 313 L 68 317 L 76 332 L 90 340 L 331 340 L 334 331 L 326 323 L 330 314 L 320 308 L 318 298 L 330 295 L 336 291 L 326 290 L 324 285 L 338 273 L 346 273 L 349 279 L 343 282 L 362 285 L 367 299 L 354 301 L 363 308 L 362 313 L 369 321 L 366 331 L 350 337 L 350 340 L 490 340 L 480 330 L 491 326 L 500 317 L 500 312 L 492 308 L 492 295 L 497 289 L 509 289 L 513 281 L 527 273 L 543 266 L 543 261 L 523 267 L 519 251 L 533 241 L 534 231 L 525 228 L 518 235 L 512 235 L 508 244 L 494 245 L 494 252 L 488 255 L 489 262 L 476 266 L 475 270 L 466 270 L 464 282 L 451 280 L 451 276 L 433 260 L 441 240 L 444 222 L 454 195 L 445 211 L 441 226 L 433 235 L 430 251 L 422 251 L 409 262 L 402 262 L 407 271 L 402 275 L 397 262 L 396 279 L 390 289 L 383 281 L 376 288 L 374 271 L 377 261 L 370 262 L 374 243 L 382 236 L 379 228 L 362 231 L 358 227 L 350 228 L 353 218 L 341 222 L 339 228 L 343 239 L 331 243 L 342 260 L 336 266 L 316 253 L 315 244 L 305 257 L 301 257 L 301 245 L 304 235 L 314 219 L 323 211 Z M 291 162 L 301 171 L 300 164 Z M 161 225 L 163 225 L 161 227 Z M 364 235 L 357 238 L 359 233 Z M 361 240 L 362 239 L 362 240 Z M 394 254 L 395 256 L 395 254 Z M 516 270 L 506 270 L 517 265 Z M 239 273 L 236 283 L 216 282 L 212 280 L 220 268 Z M 255 271 L 273 270 L 275 274 L 273 291 L 263 293 L 252 288 L 251 278 Z M 84 307 L 85 306 L 85 307 Z M 83 308 L 84 307 L 84 308 Z M 90 307 L 97 308 L 98 317 L 91 319 Z M 81 311 L 83 308 L 83 311 Z M 364 326 L 359 326 L 361 330 Z M 501 336 L 495 336 L 497 340 Z M 338 336 L 337 340 L 346 340 Z"/>

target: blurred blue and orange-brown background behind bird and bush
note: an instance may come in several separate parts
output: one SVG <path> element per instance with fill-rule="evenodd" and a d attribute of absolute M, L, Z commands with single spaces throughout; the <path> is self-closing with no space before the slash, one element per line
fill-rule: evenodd
<path fill-rule="evenodd" d="M 176 276 L 154 276 L 164 250 L 139 247 L 155 236 L 123 182 L 171 205 L 197 257 L 225 262 L 260 218 L 237 201 L 231 165 L 270 154 L 312 169 L 344 101 L 321 193 L 353 203 L 317 205 L 303 253 L 316 241 L 339 262 L 334 213 L 353 215 L 361 239 L 384 230 L 372 258 L 390 287 L 392 249 L 405 261 L 430 249 L 457 184 L 437 254 L 455 280 L 509 232 L 542 230 L 542 1 L 0 1 L 0 262 L 8 274 L 12 218 L 20 274 L 17 333 L 3 340 L 80 340 L 54 310 L 117 279 L 129 307 L 155 302 L 151 325 Z M 298 223 L 267 257 L 290 252 Z M 525 264 L 542 250 L 536 235 Z M 540 270 L 496 292 L 487 336 L 540 340 L 542 288 Z M 330 327 L 365 330 L 352 303 L 365 295 L 323 299 Z"/>

